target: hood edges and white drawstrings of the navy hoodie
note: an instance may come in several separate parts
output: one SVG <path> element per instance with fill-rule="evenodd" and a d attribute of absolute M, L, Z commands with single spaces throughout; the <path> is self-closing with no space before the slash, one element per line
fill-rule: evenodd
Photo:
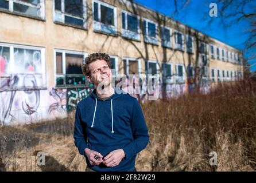
<path fill-rule="evenodd" d="M 106 101 L 111 101 L 111 133 L 114 133 L 114 118 L 113 118 L 113 100 L 116 100 L 117 98 L 127 94 L 125 92 L 123 92 L 123 90 L 118 89 L 117 87 L 115 87 L 114 89 L 114 95 L 110 98 L 108 98 Z M 91 97 L 95 100 L 95 108 L 94 108 L 94 117 L 92 118 L 92 124 L 91 124 L 91 128 L 94 128 L 94 120 L 95 120 L 95 115 L 96 115 L 96 110 L 97 110 L 97 104 L 98 104 L 98 100 L 101 100 L 97 94 L 96 94 L 96 89 L 94 89 L 94 91 L 91 94 Z"/>

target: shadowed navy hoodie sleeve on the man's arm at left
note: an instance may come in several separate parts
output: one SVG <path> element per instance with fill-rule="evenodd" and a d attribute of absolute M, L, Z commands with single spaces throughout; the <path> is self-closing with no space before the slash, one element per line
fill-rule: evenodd
<path fill-rule="evenodd" d="M 83 124 L 81 120 L 81 113 L 79 110 L 79 105 L 76 108 L 75 114 L 75 125 L 74 125 L 74 133 L 73 138 L 75 139 L 75 145 L 80 154 L 85 156 L 84 149 L 88 148 L 87 145 L 87 134 L 86 134 L 86 126 Z"/>

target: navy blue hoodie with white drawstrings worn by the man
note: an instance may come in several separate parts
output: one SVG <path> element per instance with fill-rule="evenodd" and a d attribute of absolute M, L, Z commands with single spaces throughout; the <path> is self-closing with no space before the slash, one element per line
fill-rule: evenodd
<path fill-rule="evenodd" d="M 149 142 L 148 128 L 137 99 L 117 88 L 105 101 L 100 100 L 94 90 L 78 103 L 73 137 L 79 153 L 85 157 L 86 148 L 103 157 L 113 150 L 123 149 L 125 158 L 114 167 L 92 166 L 86 157 L 89 168 L 104 172 L 133 169 L 137 153 Z"/>

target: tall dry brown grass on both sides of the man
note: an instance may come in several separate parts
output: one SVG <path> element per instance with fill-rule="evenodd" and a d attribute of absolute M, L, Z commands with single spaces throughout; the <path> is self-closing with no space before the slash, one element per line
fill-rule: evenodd
<path fill-rule="evenodd" d="M 139 171 L 256 170 L 256 81 L 222 85 L 207 95 L 189 94 L 142 105 L 150 142 L 138 154 Z M 0 170 L 84 171 L 73 144 L 73 118 L 0 128 Z M 38 151 L 46 166 L 36 165 Z M 218 165 L 209 164 L 210 152 Z"/>

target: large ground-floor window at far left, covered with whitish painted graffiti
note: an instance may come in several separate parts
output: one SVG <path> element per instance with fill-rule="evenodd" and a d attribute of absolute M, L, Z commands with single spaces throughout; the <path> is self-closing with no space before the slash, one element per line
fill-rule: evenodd
<path fill-rule="evenodd" d="M 0 90 L 45 87 L 45 49 L 0 43 Z"/>

